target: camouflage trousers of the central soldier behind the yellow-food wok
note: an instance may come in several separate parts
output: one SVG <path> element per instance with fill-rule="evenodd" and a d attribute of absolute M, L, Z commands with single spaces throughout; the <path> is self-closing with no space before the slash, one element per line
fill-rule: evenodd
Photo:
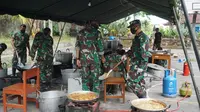
<path fill-rule="evenodd" d="M 100 81 L 99 76 L 101 73 L 100 64 L 87 64 L 82 66 L 82 88 L 86 91 L 93 91 L 100 93 Z"/>

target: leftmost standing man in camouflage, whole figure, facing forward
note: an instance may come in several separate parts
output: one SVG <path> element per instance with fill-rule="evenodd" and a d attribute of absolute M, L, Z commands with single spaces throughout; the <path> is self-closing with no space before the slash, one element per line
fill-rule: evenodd
<path fill-rule="evenodd" d="M 30 54 L 30 45 L 29 45 L 29 35 L 26 33 L 26 25 L 20 25 L 20 31 L 15 33 L 12 37 L 12 47 L 14 49 L 13 59 L 12 59 L 12 74 L 16 74 L 16 66 L 18 63 L 17 54 L 21 59 L 21 63 L 25 65 L 27 61 L 27 50 Z M 16 54 L 17 53 L 17 54 Z"/>

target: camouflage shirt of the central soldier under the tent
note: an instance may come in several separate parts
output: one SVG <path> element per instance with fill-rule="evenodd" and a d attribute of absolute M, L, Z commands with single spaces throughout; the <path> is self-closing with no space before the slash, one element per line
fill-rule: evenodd
<path fill-rule="evenodd" d="M 76 49 L 80 50 L 80 56 L 85 52 L 104 54 L 104 46 L 101 33 L 95 28 L 83 29 L 79 32 L 76 41 Z"/>

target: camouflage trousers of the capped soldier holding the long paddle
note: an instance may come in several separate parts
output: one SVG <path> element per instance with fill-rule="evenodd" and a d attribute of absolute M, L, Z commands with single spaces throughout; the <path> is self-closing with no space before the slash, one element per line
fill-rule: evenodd
<path fill-rule="evenodd" d="M 146 97 L 144 73 L 147 70 L 147 64 L 148 62 L 141 60 L 132 61 L 128 76 L 125 77 L 127 80 L 127 88 L 129 91 L 135 93 L 139 98 Z M 138 68 L 142 71 L 138 70 Z"/>

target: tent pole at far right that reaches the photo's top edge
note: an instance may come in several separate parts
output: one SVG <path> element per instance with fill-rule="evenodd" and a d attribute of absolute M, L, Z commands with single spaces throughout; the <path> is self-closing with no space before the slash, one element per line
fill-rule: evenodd
<path fill-rule="evenodd" d="M 195 53 L 195 56 L 196 56 L 196 59 L 197 59 L 198 67 L 199 67 L 199 70 L 200 70 L 200 56 L 199 56 L 199 51 L 198 51 L 196 40 L 195 40 L 196 35 L 194 34 L 194 31 L 192 30 L 192 27 L 191 27 L 191 24 L 190 24 L 188 12 L 187 12 L 187 9 L 186 9 L 186 6 L 185 6 L 185 2 L 184 2 L 184 0 L 180 0 L 180 1 L 181 1 L 181 6 L 183 8 L 186 24 L 188 26 L 188 30 L 189 30 L 190 38 L 191 38 L 192 45 L 193 45 L 193 48 L 194 48 L 194 53 Z"/>

